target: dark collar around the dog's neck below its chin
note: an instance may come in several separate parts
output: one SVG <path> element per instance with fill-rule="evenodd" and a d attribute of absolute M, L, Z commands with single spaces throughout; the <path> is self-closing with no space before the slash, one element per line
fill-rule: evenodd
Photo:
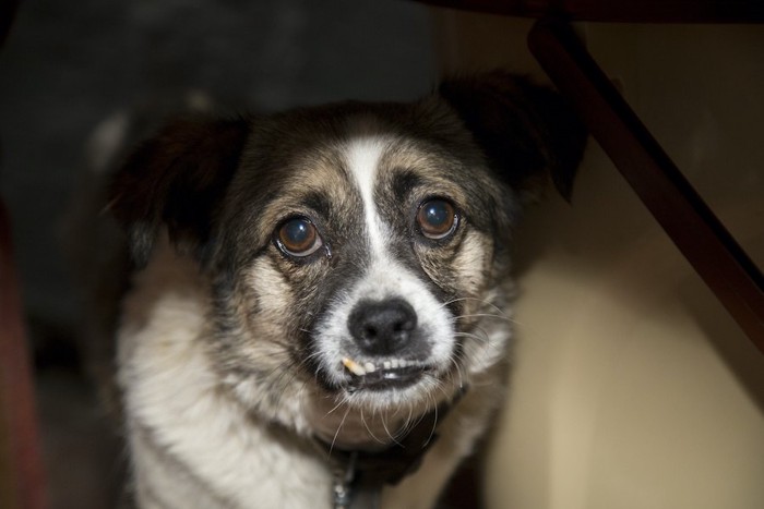
<path fill-rule="evenodd" d="M 383 450 L 344 450 L 314 437 L 334 476 L 334 509 L 378 508 L 385 484 L 396 485 L 419 469 L 425 455 L 438 440 L 439 425 L 466 390 L 461 388 L 451 400 L 439 404 Z"/>

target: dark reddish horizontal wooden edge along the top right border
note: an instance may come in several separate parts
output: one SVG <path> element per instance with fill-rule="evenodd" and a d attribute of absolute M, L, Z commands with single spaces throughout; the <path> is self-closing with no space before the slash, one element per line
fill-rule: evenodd
<path fill-rule="evenodd" d="M 610 23 L 764 23 L 761 0 L 418 0 L 517 17 Z"/>

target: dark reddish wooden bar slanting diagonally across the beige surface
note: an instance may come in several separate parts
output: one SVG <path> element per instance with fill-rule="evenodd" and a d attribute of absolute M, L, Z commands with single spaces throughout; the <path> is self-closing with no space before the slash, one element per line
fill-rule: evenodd
<path fill-rule="evenodd" d="M 537 22 L 528 34 L 528 45 L 655 219 L 764 353 L 764 277 L 756 265 L 642 124 L 568 23 Z"/>

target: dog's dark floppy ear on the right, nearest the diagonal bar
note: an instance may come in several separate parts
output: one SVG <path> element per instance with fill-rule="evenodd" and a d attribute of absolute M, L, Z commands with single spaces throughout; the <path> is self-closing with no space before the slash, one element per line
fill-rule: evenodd
<path fill-rule="evenodd" d="M 456 110 L 491 169 L 533 198 L 551 179 L 570 199 L 586 130 L 557 93 L 503 71 L 444 81 L 440 95 Z"/>

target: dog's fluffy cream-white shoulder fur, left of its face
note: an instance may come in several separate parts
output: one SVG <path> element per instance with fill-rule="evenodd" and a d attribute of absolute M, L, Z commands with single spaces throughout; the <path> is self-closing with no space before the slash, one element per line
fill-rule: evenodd
<path fill-rule="evenodd" d="M 126 296 L 118 378 L 132 461 L 153 486 L 135 496 L 243 507 L 255 483 L 263 507 L 309 507 L 329 482 L 324 464 L 307 444 L 280 439 L 220 389 L 205 351 L 211 306 L 210 281 L 167 242 Z"/>

